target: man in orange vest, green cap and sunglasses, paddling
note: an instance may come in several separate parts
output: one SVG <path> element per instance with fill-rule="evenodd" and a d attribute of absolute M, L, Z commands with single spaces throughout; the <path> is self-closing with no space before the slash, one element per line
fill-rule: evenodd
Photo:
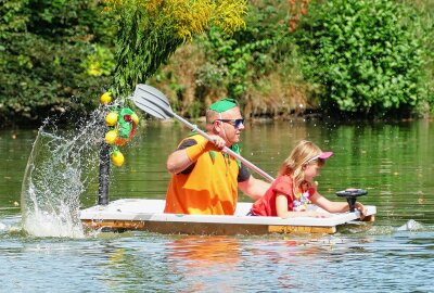
<path fill-rule="evenodd" d="M 188 137 L 167 160 L 173 174 L 164 212 L 171 214 L 233 215 L 238 188 L 257 200 L 269 183 L 255 179 L 248 169 L 230 155 L 226 146 L 239 152 L 238 142 L 244 129 L 240 107 L 233 99 L 224 99 L 206 112 L 206 132 Z"/>

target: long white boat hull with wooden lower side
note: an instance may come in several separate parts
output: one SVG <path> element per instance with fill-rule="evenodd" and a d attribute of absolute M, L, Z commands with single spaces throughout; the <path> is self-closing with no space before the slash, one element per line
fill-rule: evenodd
<path fill-rule="evenodd" d="M 89 228 L 114 230 L 145 230 L 159 233 L 188 234 L 266 234 L 286 232 L 334 233 L 336 227 L 359 219 L 360 214 L 332 214 L 329 218 L 245 216 L 252 203 L 238 203 L 234 216 L 164 214 L 164 200 L 126 199 L 105 206 L 92 206 L 80 212 Z M 373 221 L 375 206 L 367 206 L 363 220 Z"/>

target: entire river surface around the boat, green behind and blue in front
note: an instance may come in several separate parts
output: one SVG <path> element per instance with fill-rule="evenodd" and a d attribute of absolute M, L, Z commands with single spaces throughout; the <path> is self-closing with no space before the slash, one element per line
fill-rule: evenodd
<path fill-rule="evenodd" d="M 111 200 L 164 199 L 169 179 L 165 160 L 188 133 L 174 123 L 141 125 L 123 150 L 125 166 L 112 168 Z M 309 139 L 335 153 L 318 178 L 320 193 L 339 201 L 335 191 L 368 190 L 360 201 L 378 207 L 376 221 L 344 227 L 333 235 L 31 233 L 23 229 L 21 193 L 37 137 L 37 130 L 0 131 L 1 292 L 433 291 L 433 122 L 247 123 L 242 155 L 272 176 L 294 143 Z M 40 138 L 38 143 L 40 153 L 53 154 L 43 151 L 47 143 Z M 85 181 L 82 188 L 81 182 L 66 181 L 71 189 L 58 192 L 58 196 L 78 192 L 79 208 L 95 203 L 98 168 L 89 166 L 97 164 L 92 150 L 85 150 L 86 160 L 78 166 L 86 168 L 77 177 Z M 71 152 L 84 156 L 81 151 Z M 76 162 L 73 155 L 71 161 Z M 50 176 L 41 177 L 51 178 L 51 187 L 63 182 Z M 44 196 L 54 194 L 48 190 Z M 51 229 L 43 220 L 39 225 Z"/>

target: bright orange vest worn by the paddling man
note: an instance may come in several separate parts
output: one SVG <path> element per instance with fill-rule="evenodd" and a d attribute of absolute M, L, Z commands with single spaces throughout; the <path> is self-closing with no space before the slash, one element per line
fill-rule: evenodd
<path fill-rule="evenodd" d="M 200 135 L 189 137 L 197 143 Z M 182 142 L 181 142 L 182 143 Z M 238 199 L 240 167 L 231 156 L 203 153 L 190 174 L 177 174 L 170 179 L 164 213 L 195 215 L 233 215 Z"/>

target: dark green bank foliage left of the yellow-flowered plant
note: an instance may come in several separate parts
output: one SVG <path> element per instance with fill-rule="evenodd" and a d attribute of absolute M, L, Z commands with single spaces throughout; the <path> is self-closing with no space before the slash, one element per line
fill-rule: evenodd
<path fill-rule="evenodd" d="M 105 60 L 111 24 L 101 8 L 80 0 L 1 2 L 0 124 L 94 106 L 91 101 L 111 84 L 114 65 Z"/>

